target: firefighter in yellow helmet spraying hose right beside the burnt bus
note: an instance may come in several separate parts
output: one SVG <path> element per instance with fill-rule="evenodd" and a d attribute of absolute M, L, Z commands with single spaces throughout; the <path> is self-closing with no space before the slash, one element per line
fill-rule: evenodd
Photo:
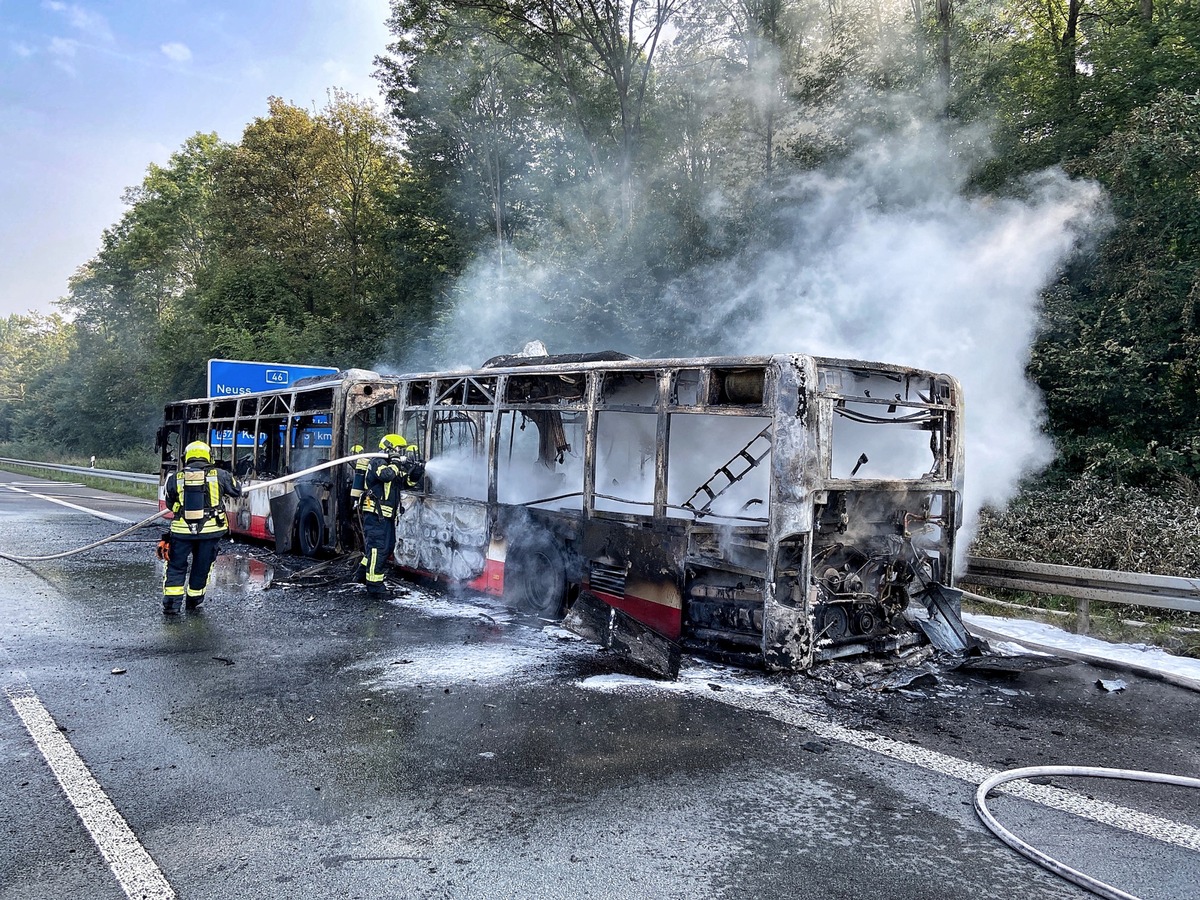
<path fill-rule="evenodd" d="M 416 487 L 425 467 L 416 457 L 406 454 L 408 442 L 400 434 L 384 434 L 379 449 L 388 457 L 368 461 L 362 490 L 362 563 L 361 580 L 367 593 L 382 596 L 384 568 L 396 546 L 396 520 L 404 514 L 400 492 Z"/>

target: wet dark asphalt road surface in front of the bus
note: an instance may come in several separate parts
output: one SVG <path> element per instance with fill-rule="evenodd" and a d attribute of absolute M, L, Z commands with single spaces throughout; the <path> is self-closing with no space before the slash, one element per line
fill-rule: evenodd
<path fill-rule="evenodd" d="M 0 552 L 152 511 L 0 473 Z M 160 532 L 0 560 L 0 900 L 1078 898 L 979 822 L 977 784 L 1200 774 L 1200 695 L 1080 664 L 689 659 L 664 683 L 487 599 L 374 601 L 338 560 L 235 544 L 203 611 L 164 619 Z M 1022 839 L 1200 896 L 1200 792 L 1037 781 L 989 803 Z"/>

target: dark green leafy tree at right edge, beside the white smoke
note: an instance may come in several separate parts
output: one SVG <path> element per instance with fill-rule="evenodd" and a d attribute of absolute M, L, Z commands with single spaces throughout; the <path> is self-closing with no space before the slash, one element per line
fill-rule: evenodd
<path fill-rule="evenodd" d="M 1117 224 L 1034 372 L 1076 466 L 1200 475 L 1200 94 L 1168 90 L 1087 162 Z"/>

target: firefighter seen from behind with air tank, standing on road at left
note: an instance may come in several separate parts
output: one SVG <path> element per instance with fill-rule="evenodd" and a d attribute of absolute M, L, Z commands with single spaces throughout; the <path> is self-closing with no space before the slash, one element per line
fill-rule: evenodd
<path fill-rule="evenodd" d="M 217 558 L 217 545 L 229 532 L 224 499 L 241 497 L 241 487 L 229 472 L 212 464 L 212 450 L 203 440 L 184 448 L 184 468 L 167 476 L 164 499 L 174 514 L 167 571 L 162 581 L 162 611 L 179 613 L 204 602 L 204 592 Z M 187 558 L 192 565 L 188 572 Z"/>

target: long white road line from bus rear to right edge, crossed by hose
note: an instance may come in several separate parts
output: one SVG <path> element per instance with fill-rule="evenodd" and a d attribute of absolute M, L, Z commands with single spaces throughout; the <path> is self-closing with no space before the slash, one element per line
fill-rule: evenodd
<path fill-rule="evenodd" d="M 680 674 L 680 678 L 683 677 Z M 776 721 L 804 728 L 827 740 L 836 740 L 841 744 L 869 750 L 896 762 L 918 766 L 938 775 L 959 779 L 974 786 L 982 785 L 992 775 L 1000 774 L 1000 769 L 967 762 L 966 760 L 948 756 L 936 750 L 929 750 L 917 744 L 906 744 L 902 740 L 893 740 L 892 738 L 872 734 L 869 731 L 857 731 L 836 725 L 821 715 L 802 709 L 794 697 L 782 694 L 773 685 L 766 683 L 752 684 L 752 686 L 745 683 L 731 683 L 721 679 L 719 676 L 714 677 L 713 672 L 708 672 L 707 674 L 700 673 L 696 678 L 697 680 L 689 679 L 688 682 L 680 680 L 674 683 L 648 682 L 647 679 L 634 678 L 629 680 L 605 679 L 593 685 L 582 682 L 581 685 L 584 688 L 596 686 L 599 689 L 616 688 L 618 690 L 622 688 L 646 689 L 649 685 L 655 685 L 664 686 L 667 690 L 695 694 L 738 709 L 763 713 Z M 719 682 L 722 690 L 713 691 L 709 688 L 710 682 Z M 1050 785 L 1034 785 L 1028 781 L 1021 781 L 1002 785 L 996 791 L 1133 834 L 1152 838 L 1163 844 L 1172 844 L 1184 850 L 1200 852 L 1200 829 L 1181 822 L 1139 812 L 1138 810 L 1118 806 L 1115 803 L 1105 800 L 1092 800 L 1074 791 Z"/>

